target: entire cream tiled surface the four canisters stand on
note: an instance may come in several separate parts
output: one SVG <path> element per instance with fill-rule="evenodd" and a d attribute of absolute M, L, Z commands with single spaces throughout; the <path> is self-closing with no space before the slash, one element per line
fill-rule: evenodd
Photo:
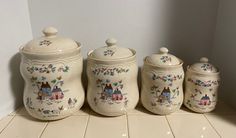
<path fill-rule="evenodd" d="M 19 108 L 0 120 L 0 138 L 235 138 L 236 110 L 219 103 L 212 113 L 182 108 L 154 115 L 141 105 L 124 116 L 103 117 L 85 105 L 74 115 L 52 122 L 31 118 Z"/>

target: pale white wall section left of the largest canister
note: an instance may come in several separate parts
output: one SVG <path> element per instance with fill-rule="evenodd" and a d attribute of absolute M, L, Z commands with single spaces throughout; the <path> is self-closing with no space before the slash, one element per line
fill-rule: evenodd
<path fill-rule="evenodd" d="M 0 1 L 0 118 L 22 103 L 18 48 L 32 38 L 27 0 Z"/>

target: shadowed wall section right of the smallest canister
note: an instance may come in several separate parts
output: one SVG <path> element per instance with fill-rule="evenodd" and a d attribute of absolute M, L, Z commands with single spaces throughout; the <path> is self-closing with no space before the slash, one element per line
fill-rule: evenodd
<path fill-rule="evenodd" d="M 212 52 L 222 77 L 221 97 L 236 108 L 236 1 L 220 0 Z"/>

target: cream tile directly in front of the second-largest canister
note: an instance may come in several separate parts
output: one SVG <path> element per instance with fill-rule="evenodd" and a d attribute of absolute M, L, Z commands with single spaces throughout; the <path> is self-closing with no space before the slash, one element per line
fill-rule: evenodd
<path fill-rule="evenodd" d="M 91 115 L 85 138 L 127 138 L 127 123 L 125 116 L 102 117 Z"/>

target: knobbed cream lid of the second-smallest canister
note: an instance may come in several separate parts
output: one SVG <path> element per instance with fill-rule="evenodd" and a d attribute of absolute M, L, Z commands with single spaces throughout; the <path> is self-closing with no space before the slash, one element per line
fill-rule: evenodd
<path fill-rule="evenodd" d="M 168 51 L 166 47 L 162 47 L 159 53 L 146 57 L 146 62 L 157 66 L 179 65 L 181 61 L 176 56 L 169 54 Z"/>

